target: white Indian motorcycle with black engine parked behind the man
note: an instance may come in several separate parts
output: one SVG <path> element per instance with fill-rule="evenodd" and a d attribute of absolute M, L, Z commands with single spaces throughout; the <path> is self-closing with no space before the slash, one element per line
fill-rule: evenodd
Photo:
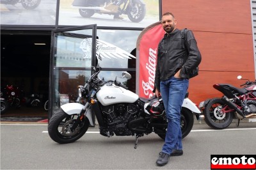
<path fill-rule="evenodd" d="M 99 123 L 101 135 L 111 137 L 135 136 L 136 148 L 138 137 L 154 132 L 165 138 L 167 121 L 162 98 L 139 98 L 117 81 L 100 79 L 100 66 L 93 67 L 94 73 L 84 86 L 78 86 L 77 103 L 61 105 L 49 120 L 48 132 L 53 141 L 60 144 L 73 143 L 81 138 L 93 125 L 92 112 Z M 127 72 L 122 78 L 131 79 Z M 80 104 L 83 98 L 86 102 Z M 194 123 L 194 114 L 199 118 L 200 110 L 188 98 L 188 93 L 180 112 L 182 137 L 186 137 Z"/>

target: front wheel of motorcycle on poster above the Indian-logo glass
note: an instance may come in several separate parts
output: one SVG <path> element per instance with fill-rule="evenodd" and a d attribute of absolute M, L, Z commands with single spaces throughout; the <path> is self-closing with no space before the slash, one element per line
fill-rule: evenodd
<path fill-rule="evenodd" d="M 129 8 L 127 15 L 132 22 L 141 22 L 146 15 L 145 4 L 134 3 L 133 6 Z"/>

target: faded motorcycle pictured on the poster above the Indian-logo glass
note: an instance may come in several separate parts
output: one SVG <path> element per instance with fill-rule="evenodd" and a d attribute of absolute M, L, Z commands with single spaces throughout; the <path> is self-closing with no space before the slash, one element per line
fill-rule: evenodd
<path fill-rule="evenodd" d="M 146 15 L 146 4 L 143 0 L 74 0 L 73 7 L 79 8 L 82 17 L 92 17 L 94 13 L 127 15 L 132 22 L 141 22 Z"/>

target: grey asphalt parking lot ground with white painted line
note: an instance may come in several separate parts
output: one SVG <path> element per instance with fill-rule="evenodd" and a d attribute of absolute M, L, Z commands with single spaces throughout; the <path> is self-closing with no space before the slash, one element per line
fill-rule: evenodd
<path fill-rule="evenodd" d="M 256 123 L 232 123 L 224 130 L 195 124 L 183 139 L 184 155 L 164 167 L 156 159 L 164 141 L 156 134 L 104 137 L 99 127 L 75 143 L 58 144 L 47 123 L 1 124 L 1 169 L 210 169 L 211 155 L 255 154 Z"/>

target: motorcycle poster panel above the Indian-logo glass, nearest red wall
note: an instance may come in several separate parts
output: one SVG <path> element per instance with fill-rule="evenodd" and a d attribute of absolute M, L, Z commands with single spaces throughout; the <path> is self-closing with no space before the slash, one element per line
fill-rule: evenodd
<path fill-rule="evenodd" d="M 159 21 L 159 0 L 63 0 L 59 25 L 147 27 Z"/>

